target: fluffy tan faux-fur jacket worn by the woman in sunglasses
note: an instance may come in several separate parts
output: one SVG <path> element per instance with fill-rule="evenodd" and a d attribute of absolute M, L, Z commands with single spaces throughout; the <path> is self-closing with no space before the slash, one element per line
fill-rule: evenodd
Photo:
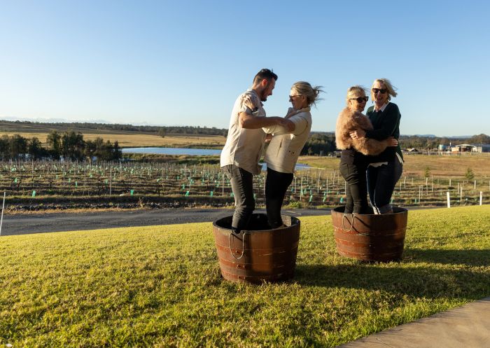
<path fill-rule="evenodd" d="M 339 113 L 337 125 L 335 127 L 335 144 L 339 150 L 354 148 L 363 155 L 379 155 L 388 146 L 388 139 L 375 140 L 366 137 L 352 139 L 349 132 L 354 130 L 372 130 L 372 124 L 369 118 L 359 111 L 351 111 L 345 108 Z"/>

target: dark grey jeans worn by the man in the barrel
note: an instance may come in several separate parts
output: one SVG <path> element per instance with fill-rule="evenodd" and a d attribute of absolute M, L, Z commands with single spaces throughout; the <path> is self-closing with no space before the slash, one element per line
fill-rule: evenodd
<path fill-rule="evenodd" d="M 246 230 L 248 221 L 255 209 L 253 198 L 253 174 L 241 169 L 236 165 L 225 165 L 221 167 L 232 184 L 235 196 L 235 213 L 233 214 L 232 230 L 240 232 Z"/>

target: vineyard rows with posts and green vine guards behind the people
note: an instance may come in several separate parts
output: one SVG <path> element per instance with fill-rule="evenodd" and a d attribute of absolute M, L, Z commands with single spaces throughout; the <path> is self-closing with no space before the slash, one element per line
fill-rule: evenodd
<path fill-rule="evenodd" d="M 6 210 L 111 207 L 223 207 L 233 203 L 230 181 L 218 165 L 155 162 L 0 162 L 0 192 Z M 442 206 L 490 202 L 486 176 L 402 175 L 393 194 L 400 206 Z M 345 181 L 336 169 L 295 172 L 286 195 L 290 207 L 335 207 L 345 200 Z M 264 204 L 265 172 L 254 177 L 254 195 Z"/>

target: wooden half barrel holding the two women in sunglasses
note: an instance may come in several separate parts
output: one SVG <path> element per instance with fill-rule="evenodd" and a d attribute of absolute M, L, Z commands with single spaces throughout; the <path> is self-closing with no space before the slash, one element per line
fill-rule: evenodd
<path fill-rule="evenodd" d="M 332 210 L 337 252 L 348 258 L 389 262 L 401 260 L 407 209 L 393 207 L 393 214 L 344 214 L 344 207 Z"/>

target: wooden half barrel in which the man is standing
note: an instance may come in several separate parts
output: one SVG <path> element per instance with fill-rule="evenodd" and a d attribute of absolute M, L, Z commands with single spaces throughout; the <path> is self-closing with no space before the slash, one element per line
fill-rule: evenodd
<path fill-rule="evenodd" d="M 232 233 L 233 216 L 213 223 L 214 242 L 223 278 L 260 284 L 293 277 L 300 221 L 283 215 L 286 227 L 270 229 L 265 214 L 253 214 L 248 230 Z"/>

